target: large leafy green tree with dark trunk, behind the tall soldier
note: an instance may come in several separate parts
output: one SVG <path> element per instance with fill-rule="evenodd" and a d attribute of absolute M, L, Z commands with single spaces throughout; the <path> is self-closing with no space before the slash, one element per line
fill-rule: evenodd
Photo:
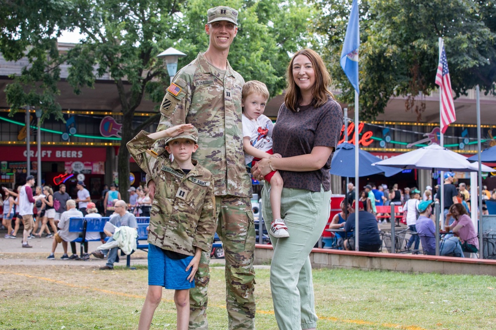
<path fill-rule="evenodd" d="M 240 11 L 240 28 L 229 55 L 231 65 L 245 80 L 260 80 L 267 84 L 271 95 L 279 93 L 285 85 L 288 53 L 305 45 L 308 39 L 311 9 L 303 0 L 222 3 L 22 0 L 3 2 L 0 7 L 0 22 L 8 22 L 7 28 L 2 30 L 0 51 L 5 53 L 15 44 L 16 56 L 7 59 L 16 60 L 28 50 L 28 59 L 37 69 L 25 69 L 20 77 L 15 77 L 6 89 L 8 102 L 12 107 L 22 104 L 40 104 L 44 110 L 50 107 L 51 112 L 46 112 L 44 118 L 53 114 L 62 119 L 56 97 L 62 63 L 70 65 L 67 81 L 76 94 L 81 88 L 92 88 L 98 77 L 109 73 L 123 113 L 118 173 L 121 193 L 126 199 L 129 153 L 125 143 L 142 127 L 158 122 L 157 114 L 134 127 L 134 112 L 144 97 L 160 102 L 169 86 L 165 65 L 156 55 L 168 47 L 176 47 L 187 54 L 179 62 L 181 67 L 199 51 L 206 50 L 206 12 L 220 4 Z M 16 9 L 20 11 L 13 15 Z M 59 53 L 57 36 L 62 30 L 76 27 L 83 34 L 83 40 L 66 53 Z M 43 98 L 45 94 L 50 98 Z"/>

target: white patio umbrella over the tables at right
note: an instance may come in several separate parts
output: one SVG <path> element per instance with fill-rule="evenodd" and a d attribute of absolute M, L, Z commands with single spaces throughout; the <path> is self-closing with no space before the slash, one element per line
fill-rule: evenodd
<path fill-rule="evenodd" d="M 385 165 L 404 169 L 421 169 L 450 172 L 477 172 L 478 163 L 471 163 L 467 157 L 446 149 L 439 144 L 431 144 L 417 150 L 394 156 L 372 165 Z M 482 165 L 482 172 L 492 172 L 493 168 Z"/>

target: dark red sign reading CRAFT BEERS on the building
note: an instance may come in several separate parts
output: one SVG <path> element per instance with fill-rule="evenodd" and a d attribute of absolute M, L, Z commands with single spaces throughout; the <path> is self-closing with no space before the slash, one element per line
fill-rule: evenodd
<path fill-rule="evenodd" d="M 36 146 L 30 148 L 31 161 L 38 158 Z M 0 146 L 2 160 L 26 161 L 25 146 Z M 91 161 L 104 162 L 107 160 L 105 147 L 73 147 L 73 146 L 42 146 L 41 160 L 44 162 Z"/>

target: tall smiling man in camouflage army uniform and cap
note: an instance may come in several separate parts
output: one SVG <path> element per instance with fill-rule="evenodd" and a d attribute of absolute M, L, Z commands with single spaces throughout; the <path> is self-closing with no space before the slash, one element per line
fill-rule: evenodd
<path fill-rule="evenodd" d="M 238 33 L 238 12 L 218 6 L 207 11 L 209 46 L 174 77 L 162 101 L 158 131 L 190 123 L 198 129 L 194 158 L 214 178 L 217 233 L 226 256 L 226 296 L 229 329 L 254 329 L 253 253 L 255 228 L 251 181 L 245 169 L 241 91 L 245 80 L 227 56 Z M 156 144 L 154 151 L 163 152 Z M 150 182 L 150 191 L 155 191 Z M 189 329 L 208 329 L 206 318 L 210 255 L 202 253 L 196 287 L 190 290 Z"/>

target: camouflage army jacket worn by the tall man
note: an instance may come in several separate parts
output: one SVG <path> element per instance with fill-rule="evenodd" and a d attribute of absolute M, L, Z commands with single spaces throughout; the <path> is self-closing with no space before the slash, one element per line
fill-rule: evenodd
<path fill-rule="evenodd" d="M 220 72 L 199 53 L 176 74 L 160 107 L 157 131 L 184 123 L 198 129 L 199 148 L 193 158 L 212 172 L 216 196 L 251 196 L 241 121 L 244 84 L 229 61 L 225 73 Z M 162 152 L 160 147 L 155 151 Z"/>

